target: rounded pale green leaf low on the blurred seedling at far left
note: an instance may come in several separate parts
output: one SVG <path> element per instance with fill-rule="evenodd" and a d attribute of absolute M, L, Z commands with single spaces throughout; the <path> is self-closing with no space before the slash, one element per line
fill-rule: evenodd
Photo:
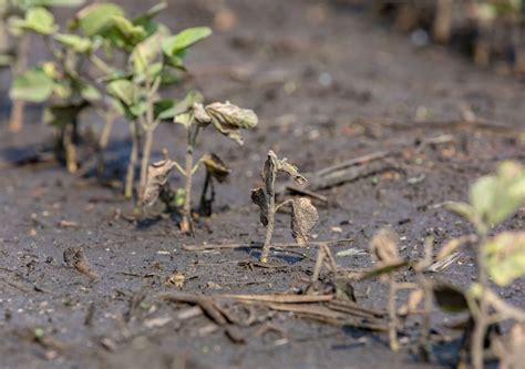
<path fill-rule="evenodd" d="M 14 78 L 10 98 L 41 103 L 51 96 L 54 81 L 42 69 L 32 69 Z"/>

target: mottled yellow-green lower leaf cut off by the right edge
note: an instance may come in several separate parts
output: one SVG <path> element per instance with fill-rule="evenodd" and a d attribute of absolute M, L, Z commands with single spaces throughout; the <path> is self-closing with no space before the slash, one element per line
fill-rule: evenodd
<path fill-rule="evenodd" d="M 508 286 L 525 275 L 525 232 L 503 232 L 483 247 L 485 267 L 494 281 Z"/>

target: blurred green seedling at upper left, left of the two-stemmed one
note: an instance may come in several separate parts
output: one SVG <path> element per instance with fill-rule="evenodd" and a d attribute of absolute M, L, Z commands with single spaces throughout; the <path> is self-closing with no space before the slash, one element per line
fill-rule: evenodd
<path fill-rule="evenodd" d="M 17 34 L 38 34 L 43 39 L 52 60 L 16 76 L 10 95 L 13 101 L 47 103 L 43 121 L 54 127 L 55 153 L 71 173 L 78 170 L 76 144 L 79 115 L 102 99 L 91 78 L 83 73 L 83 63 L 96 43 L 63 32 L 53 14 L 42 7 L 30 8 L 24 18 L 10 21 Z"/>

